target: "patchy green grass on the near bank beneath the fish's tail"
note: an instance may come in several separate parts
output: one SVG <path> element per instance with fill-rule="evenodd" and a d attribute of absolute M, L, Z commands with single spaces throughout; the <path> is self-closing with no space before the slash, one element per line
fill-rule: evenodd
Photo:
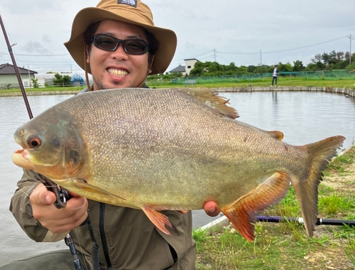
<path fill-rule="evenodd" d="M 325 173 L 331 176 L 319 188 L 319 217 L 355 220 L 355 176 L 351 166 L 354 157 L 353 146 L 329 163 Z M 295 190 L 291 187 L 278 205 L 259 214 L 300 217 Z M 241 237 L 231 225 L 214 229 L 211 234 L 194 232 L 197 270 L 355 269 L 355 227 L 317 226 L 312 238 L 307 237 L 303 225 L 292 221 L 256 222 L 255 229 L 254 242 Z"/>

